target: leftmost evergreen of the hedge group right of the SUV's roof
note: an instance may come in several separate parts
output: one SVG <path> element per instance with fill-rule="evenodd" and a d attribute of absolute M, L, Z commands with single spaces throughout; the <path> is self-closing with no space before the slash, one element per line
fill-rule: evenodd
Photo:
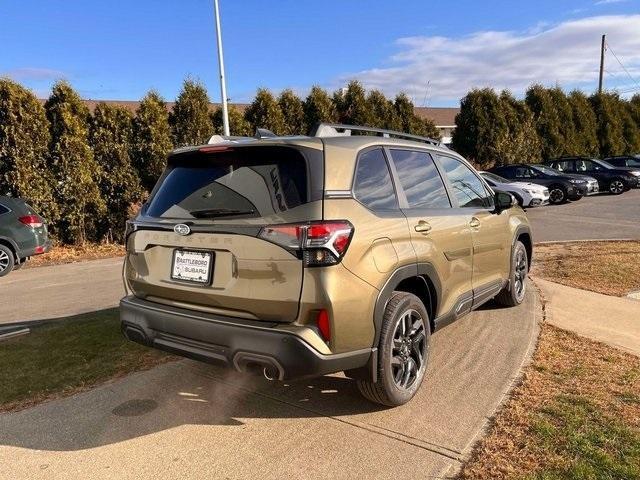
<path fill-rule="evenodd" d="M 455 151 L 482 167 L 504 163 L 501 157 L 509 128 L 496 92 L 473 89 L 460 102 L 452 146 Z"/>

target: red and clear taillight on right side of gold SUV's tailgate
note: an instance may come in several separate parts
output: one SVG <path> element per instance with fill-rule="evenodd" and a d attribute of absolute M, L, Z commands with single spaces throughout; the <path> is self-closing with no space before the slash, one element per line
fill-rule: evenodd
<path fill-rule="evenodd" d="M 344 256 L 353 225 L 344 220 L 287 225 L 269 225 L 259 237 L 299 253 L 305 266 L 339 263 Z"/>

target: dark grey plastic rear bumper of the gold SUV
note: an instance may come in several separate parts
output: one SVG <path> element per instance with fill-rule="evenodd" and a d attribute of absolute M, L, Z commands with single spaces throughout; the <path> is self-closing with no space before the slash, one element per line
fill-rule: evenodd
<path fill-rule="evenodd" d="M 238 371 L 268 368 L 279 380 L 314 377 L 367 365 L 371 349 L 324 355 L 294 333 L 242 320 L 169 307 L 128 296 L 120 301 L 132 341 Z M 270 325 L 266 323 L 266 325 Z"/>

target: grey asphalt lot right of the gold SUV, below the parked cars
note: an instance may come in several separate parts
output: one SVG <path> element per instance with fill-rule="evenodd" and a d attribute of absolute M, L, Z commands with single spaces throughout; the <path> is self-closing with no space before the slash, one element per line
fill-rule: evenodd
<path fill-rule="evenodd" d="M 527 209 L 535 242 L 640 239 L 640 189 Z"/>

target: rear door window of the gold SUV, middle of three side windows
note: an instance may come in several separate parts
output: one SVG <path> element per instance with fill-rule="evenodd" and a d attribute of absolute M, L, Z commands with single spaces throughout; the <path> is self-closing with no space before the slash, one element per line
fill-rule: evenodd
<path fill-rule="evenodd" d="M 410 208 L 451 207 L 431 155 L 412 150 L 391 150 L 391 157 Z"/>

